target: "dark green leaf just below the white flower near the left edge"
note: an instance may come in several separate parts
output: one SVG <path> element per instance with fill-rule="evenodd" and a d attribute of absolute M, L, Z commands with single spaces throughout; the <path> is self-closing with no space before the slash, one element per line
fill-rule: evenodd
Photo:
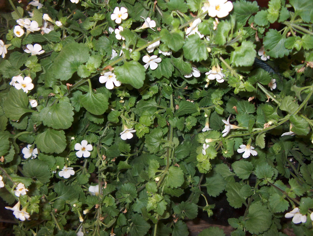
<path fill-rule="evenodd" d="M 26 177 L 36 178 L 42 183 L 49 182 L 50 170 L 49 165 L 42 160 L 34 159 L 24 162 L 23 175 Z"/>

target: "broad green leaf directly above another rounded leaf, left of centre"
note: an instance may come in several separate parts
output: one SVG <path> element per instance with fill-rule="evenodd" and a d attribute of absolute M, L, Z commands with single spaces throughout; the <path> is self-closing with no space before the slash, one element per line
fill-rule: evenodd
<path fill-rule="evenodd" d="M 43 108 L 39 113 L 39 119 L 48 127 L 54 129 L 67 129 L 74 120 L 73 107 L 69 102 L 60 102 L 50 107 Z"/>

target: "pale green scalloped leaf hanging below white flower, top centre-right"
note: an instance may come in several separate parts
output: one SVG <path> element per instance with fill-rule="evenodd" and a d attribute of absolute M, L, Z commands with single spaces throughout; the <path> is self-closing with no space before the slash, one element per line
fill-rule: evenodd
<path fill-rule="evenodd" d="M 184 50 L 184 57 L 188 60 L 202 61 L 208 58 L 206 44 L 204 40 L 200 39 L 198 34 L 190 35 L 182 48 Z"/>

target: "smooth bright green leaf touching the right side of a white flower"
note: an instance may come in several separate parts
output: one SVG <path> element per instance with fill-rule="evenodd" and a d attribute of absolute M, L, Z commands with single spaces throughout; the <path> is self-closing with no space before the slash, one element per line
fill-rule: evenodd
<path fill-rule="evenodd" d="M 125 61 L 123 66 L 114 68 L 116 79 L 134 88 L 141 88 L 145 80 L 145 68 L 138 61 Z"/>

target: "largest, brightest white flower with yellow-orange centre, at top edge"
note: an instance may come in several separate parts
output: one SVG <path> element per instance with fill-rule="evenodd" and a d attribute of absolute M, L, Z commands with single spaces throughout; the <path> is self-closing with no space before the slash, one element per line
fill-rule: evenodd
<path fill-rule="evenodd" d="M 203 12 L 208 11 L 210 17 L 223 18 L 233 10 L 233 3 L 227 0 L 207 0 L 201 9 Z"/>

